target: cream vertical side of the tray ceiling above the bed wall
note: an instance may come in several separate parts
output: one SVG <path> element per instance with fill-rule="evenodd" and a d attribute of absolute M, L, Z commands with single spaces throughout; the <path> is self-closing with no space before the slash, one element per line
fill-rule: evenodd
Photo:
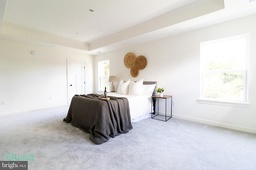
<path fill-rule="evenodd" d="M 177 23 L 224 9 L 224 0 L 199 0 L 162 16 L 90 43 L 90 50 L 124 41 Z"/>

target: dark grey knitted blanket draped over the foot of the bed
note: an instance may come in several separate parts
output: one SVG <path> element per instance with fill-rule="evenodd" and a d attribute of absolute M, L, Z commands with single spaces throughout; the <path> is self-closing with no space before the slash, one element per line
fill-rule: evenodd
<path fill-rule="evenodd" d="M 90 140 L 102 144 L 111 137 L 132 129 L 127 98 L 99 98 L 98 94 L 75 95 L 72 98 L 66 123 L 90 133 Z"/>

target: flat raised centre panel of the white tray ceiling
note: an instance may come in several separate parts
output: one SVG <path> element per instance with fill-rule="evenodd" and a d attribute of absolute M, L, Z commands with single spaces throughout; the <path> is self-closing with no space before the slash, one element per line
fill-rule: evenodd
<path fill-rule="evenodd" d="M 196 1 L 8 0 L 4 22 L 91 43 Z"/>

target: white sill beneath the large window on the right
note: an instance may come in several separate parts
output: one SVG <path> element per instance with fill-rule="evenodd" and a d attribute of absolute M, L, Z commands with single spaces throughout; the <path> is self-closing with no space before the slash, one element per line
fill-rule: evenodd
<path fill-rule="evenodd" d="M 226 102 L 226 101 L 217 101 L 217 100 L 206 100 L 206 99 L 198 99 L 199 103 L 202 104 L 215 104 L 221 106 L 232 106 L 232 107 L 250 107 L 249 103 L 246 102 Z"/>

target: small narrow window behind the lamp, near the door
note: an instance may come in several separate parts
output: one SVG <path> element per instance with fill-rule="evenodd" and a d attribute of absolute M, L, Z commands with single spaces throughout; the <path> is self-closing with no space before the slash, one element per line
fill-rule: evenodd
<path fill-rule="evenodd" d="M 104 91 L 105 87 L 109 91 L 109 60 L 99 61 L 98 62 L 98 82 L 99 82 L 99 91 Z"/>

